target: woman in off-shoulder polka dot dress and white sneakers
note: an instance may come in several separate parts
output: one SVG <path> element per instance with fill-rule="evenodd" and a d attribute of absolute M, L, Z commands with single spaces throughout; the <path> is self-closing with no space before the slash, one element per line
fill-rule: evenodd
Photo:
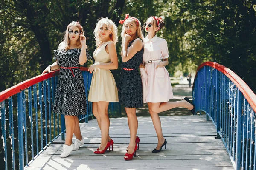
<path fill-rule="evenodd" d="M 87 106 L 84 79 L 79 67 L 91 57 L 83 27 L 78 22 L 73 21 L 67 26 L 64 41 L 60 43 L 58 50 L 54 50 L 54 54 L 56 62 L 49 65 L 43 74 L 60 69 L 53 113 L 63 114 L 65 117 L 66 140 L 61 153 L 64 158 L 84 144 L 77 116 L 86 114 Z M 75 144 L 72 143 L 73 134 L 76 136 Z"/>

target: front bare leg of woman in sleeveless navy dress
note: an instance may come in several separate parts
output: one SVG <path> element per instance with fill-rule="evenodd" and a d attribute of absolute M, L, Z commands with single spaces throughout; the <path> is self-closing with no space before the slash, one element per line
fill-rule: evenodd
<path fill-rule="evenodd" d="M 127 153 L 131 154 L 134 152 L 135 145 L 136 145 L 135 140 L 136 140 L 137 130 L 138 130 L 138 119 L 136 116 L 136 108 L 125 108 L 125 111 L 127 113 L 128 125 L 130 130 L 130 143 L 129 143 L 129 148 Z"/>

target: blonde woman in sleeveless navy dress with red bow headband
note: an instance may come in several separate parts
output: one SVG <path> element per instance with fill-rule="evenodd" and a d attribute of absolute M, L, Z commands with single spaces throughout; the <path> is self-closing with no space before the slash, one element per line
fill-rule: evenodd
<path fill-rule="evenodd" d="M 130 143 L 125 154 L 125 160 L 133 159 L 136 155 L 137 144 L 136 134 L 138 130 L 138 120 L 136 108 L 143 107 L 143 91 L 139 65 L 143 58 L 143 34 L 140 28 L 140 21 L 135 17 L 125 15 L 125 20 L 119 23 L 122 27 L 122 65 L 121 65 L 121 90 L 120 102 L 125 107 L 130 129 Z"/>

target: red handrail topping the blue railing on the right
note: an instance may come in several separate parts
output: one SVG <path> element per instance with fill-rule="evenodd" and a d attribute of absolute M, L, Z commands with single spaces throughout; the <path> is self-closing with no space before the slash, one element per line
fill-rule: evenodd
<path fill-rule="evenodd" d="M 239 88 L 239 90 L 243 93 L 245 99 L 247 99 L 248 103 L 253 108 L 253 111 L 256 112 L 256 95 L 253 93 L 253 91 L 250 89 L 250 87 L 242 80 L 236 73 L 234 73 L 229 68 L 225 67 L 224 65 L 220 65 L 217 62 L 204 62 L 201 64 L 198 70 L 201 69 L 204 66 L 210 66 L 212 68 L 215 68 L 216 70 L 220 71 L 221 73 L 225 74 L 235 85 Z M 197 73 L 195 77 L 197 76 Z"/>

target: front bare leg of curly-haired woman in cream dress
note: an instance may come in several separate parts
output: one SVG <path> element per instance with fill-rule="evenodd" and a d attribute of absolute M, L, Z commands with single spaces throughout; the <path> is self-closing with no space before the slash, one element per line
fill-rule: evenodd
<path fill-rule="evenodd" d="M 100 131 L 102 134 L 101 145 L 99 151 L 104 150 L 108 143 L 108 131 L 109 131 L 109 117 L 108 112 L 106 113 L 106 108 L 108 108 L 109 102 L 100 101 L 97 104 L 97 109 L 100 117 Z"/>

